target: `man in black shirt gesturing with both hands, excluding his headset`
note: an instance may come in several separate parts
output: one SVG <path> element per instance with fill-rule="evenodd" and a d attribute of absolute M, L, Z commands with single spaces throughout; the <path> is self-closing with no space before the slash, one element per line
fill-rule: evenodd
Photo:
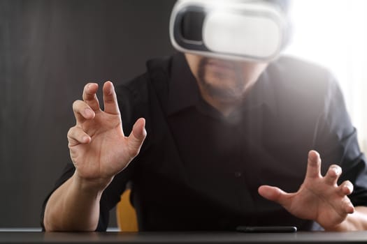
<path fill-rule="evenodd" d="M 104 111 L 97 89 L 73 103 L 73 164 L 45 201 L 45 230 L 106 229 L 127 182 L 142 231 L 367 229 L 366 159 L 326 70 L 178 53 L 117 95 L 106 82 Z"/>

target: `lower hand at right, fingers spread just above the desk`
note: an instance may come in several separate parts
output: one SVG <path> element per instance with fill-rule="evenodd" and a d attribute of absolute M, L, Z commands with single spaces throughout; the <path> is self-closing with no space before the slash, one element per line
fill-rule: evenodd
<path fill-rule="evenodd" d="M 297 192 L 287 193 L 280 188 L 261 185 L 259 194 L 281 204 L 297 218 L 314 220 L 325 230 L 333 230 L 354 212 L 354 206 L 347 197 L 352 193 L 353 185 L 350 181 L 338 185 L 341 173 L 338 165 L 331 165 L 322 176 L 319 153 L 310 151 L 305 180 Z"/>

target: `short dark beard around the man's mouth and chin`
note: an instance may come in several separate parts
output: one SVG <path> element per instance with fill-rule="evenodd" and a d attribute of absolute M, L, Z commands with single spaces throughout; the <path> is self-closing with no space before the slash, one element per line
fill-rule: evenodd
<path fill-rule="evenodd" d="M 224 63 L 225 61 L 220 62 Z M 223 70 L 208 70 L 209 63 L 210 59 L 203 57 L 199 61 L 198 68 L 198 82 L 206 93 L 222 102 L 233 102 L 241 99 L 245 84 L 240 67 L 236 66 L 236 63 L 228 61 L 226 72 L 223 72 Z M 217 82 L 210 82 L 210 78 Z"/>

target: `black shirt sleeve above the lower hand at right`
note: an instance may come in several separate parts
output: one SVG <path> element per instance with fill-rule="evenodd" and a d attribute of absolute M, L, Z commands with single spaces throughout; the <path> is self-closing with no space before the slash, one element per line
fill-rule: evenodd
<path fill-rule="evenodd" d="M 367 206 L 367 162 L 359 148 L 357 130 L 350 121 L 340 87 L 331 75 L 326 90 L 316 138 L 316 149 L 326 162 L 322 167 L 323 174 L 327 171 L 326 165 L 340 165 L 343 173 L 338 184 L 351 181 L 354 185 L 349 196 L 352 204 Z"/>

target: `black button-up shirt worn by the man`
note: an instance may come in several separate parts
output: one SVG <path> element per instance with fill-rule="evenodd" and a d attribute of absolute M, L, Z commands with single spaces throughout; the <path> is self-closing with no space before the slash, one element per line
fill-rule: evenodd
<path fill-rule="evenodd" d="M 117 86 L 125 134 L 145 117 L 141 153 L 115 176 L 101 198 L 99 230 L 127 182 L 141 231 L 234 230 L 238 225 L 310 229 L 263 199 L 260 185 L 295 192 L 308 151 L 350 180 L 352 203 L 367 205 L 367 171 L 343 96 L 318 66 L 291 58 L 271 63 L 236 111 L 223 116 L 199 93 L 183 54 L 147 62 L 147 73 Z M 73 174 L 69 164 L 57 182 Z"/>

